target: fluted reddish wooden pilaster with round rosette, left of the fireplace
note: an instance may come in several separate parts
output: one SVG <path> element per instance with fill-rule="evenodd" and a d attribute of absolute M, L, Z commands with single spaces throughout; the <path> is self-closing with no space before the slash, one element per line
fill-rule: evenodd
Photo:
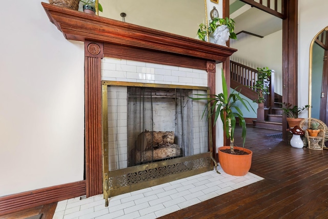
<path fill-rule="evenodd" d="M 85 41 L 85 163 L 87 197 L 103 193 L 101 160 L 101 58 L 103 44 Z"/>

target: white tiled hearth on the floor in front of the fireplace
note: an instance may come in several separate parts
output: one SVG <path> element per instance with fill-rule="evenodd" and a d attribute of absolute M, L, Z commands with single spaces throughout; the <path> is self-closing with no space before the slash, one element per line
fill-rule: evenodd
<path fill-rule="evenodd" d="M 218 166 L 214 170 L 181 180 L 111 197 L 105 207 L 103 195 L 58 202 L 54 219 L 157 218 L 182 208 L 263 180 L 253 173 L 231 176 Z"/>

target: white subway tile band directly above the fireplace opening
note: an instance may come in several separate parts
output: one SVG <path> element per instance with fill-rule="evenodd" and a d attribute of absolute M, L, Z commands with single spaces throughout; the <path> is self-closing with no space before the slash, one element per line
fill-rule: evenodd
<path fill-rule="evenodd" d="M 205 70 L 129 61 L 101 59 L 101 80 L 207 87 Z"/>

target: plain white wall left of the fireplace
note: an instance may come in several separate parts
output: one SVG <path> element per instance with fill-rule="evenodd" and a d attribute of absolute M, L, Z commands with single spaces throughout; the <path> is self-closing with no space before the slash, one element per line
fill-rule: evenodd
<path fill-rule="evenodd" d="M 83 180 L 83 43 L 39 0 L 10 1 L 0 18 L 0 196 Z"/>

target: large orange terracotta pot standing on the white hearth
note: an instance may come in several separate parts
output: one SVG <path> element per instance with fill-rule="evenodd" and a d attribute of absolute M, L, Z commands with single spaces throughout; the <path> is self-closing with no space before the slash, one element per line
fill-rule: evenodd
<path fill-rule="evenodd" d="M 251 169 L 253 152 L 246 148 L 234 147 L 235 149 L 245 151 L 247 155 L 235 155 L 224 153 L 220 150 L 230 149 L 230 146 L 218 148 L 219 162 L 222 170 L 230 175 L 243 176 Z"/>

